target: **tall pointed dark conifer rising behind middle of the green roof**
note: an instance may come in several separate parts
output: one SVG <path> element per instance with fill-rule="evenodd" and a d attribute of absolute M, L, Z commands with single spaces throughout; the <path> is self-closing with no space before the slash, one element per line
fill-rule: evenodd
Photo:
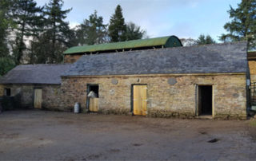
<path fill-rule="evenodd" d="M 117 6 L 110 18 L 109 36 L 111 42 L 126 41 L 126 24 L 120 5 Z"/>

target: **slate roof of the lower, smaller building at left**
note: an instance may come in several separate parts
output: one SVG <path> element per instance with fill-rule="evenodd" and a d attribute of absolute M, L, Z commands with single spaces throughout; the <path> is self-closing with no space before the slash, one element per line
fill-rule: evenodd
<path fill-rule="evenodd" d="M 61 73 L 69 68 L 70 64 L 18 65 L 0 77 L 0 84 L 61 84 Z"/>

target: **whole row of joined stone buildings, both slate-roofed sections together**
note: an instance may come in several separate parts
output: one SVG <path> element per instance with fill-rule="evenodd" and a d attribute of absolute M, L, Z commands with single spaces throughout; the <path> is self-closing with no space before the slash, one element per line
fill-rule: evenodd
<path fill-rule="evenodd" d="M 72 65 L 18 65 L 0 78 L 0 96 L 59 111 L 78 102 L 82 112 L 246 119 L 246 42 L 164 48 L 158 41 L 102 54 L 68 49 L 79 58 Z"/>

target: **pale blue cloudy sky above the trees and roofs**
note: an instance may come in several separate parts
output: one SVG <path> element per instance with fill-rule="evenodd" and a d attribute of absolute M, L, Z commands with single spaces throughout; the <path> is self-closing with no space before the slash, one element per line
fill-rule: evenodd
<path fill-rule="evenodd" d="M 49 0 L 36 0 L 39 6 Z M 115 7 L 122 6 L 126 22 L 134 22 L 145 29 L 149 37 L 175 35 L 179 38 L 197 38 L 201 33 L 218 36 L 226 33 L 223 26 L 230 21 L 227 10 L 241 0 L 64 0 L 64 9 L 72 8 L 66 21 L 70 26 L 98 11 L 109 23 Z"/>

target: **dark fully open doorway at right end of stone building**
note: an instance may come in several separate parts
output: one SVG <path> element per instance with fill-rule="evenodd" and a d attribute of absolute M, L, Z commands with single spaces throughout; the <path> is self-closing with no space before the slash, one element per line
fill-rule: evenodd
<path fill-rule="evenodd" d="M 198 86 L 198 115 L 212 115 L 213 87 L 212 85 Z"/>

